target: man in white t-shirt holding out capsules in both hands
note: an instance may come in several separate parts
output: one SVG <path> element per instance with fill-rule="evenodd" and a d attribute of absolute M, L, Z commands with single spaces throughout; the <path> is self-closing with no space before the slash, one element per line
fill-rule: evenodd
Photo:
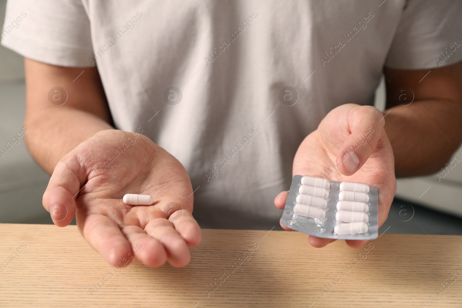
<path fill-rule="evenodd" d="M 435 172 L 461 143 L 462 6 L 381 2 L 9 1 L 43 206 L 113 265 L 187 265 L 195 219 L 270 229 L 296 174 L 377 186 L 383 224 L 395 173 Z"/>

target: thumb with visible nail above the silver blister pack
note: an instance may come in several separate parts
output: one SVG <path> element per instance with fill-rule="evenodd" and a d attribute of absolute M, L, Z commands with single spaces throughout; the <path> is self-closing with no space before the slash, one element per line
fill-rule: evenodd
<path fill-rule="evenodd" d="M 371 156 L 383 132 L 383 114 L 372 106 L 359 106 L 350 110 L 348 125 L 351 134 L 340 146 L 337 169 L 343 175 L 352 175 Z"/>

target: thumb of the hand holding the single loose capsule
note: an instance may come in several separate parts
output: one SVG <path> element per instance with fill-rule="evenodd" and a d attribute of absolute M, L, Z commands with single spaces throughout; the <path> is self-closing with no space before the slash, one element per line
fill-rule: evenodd
<path fill-rule="evenodd" d="M 43 207 L 50 212 L 53 223 L 58 227 L 67 226 L 74 218 L 75 198 L 86 179 L 81 168 L 75 156 L 61 159 L 43 193 Z"/>

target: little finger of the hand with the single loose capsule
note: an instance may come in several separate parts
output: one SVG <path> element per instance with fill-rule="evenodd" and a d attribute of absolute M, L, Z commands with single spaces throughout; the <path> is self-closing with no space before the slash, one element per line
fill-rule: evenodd
<path fill-rule="evenodd" d="M 175 211 L 170 215 L 169 221 L 173 223 L 176 231 L 185 240 L 188 247 L 199 245 L 202 240 L 201 228 L 189 211 Z"/>

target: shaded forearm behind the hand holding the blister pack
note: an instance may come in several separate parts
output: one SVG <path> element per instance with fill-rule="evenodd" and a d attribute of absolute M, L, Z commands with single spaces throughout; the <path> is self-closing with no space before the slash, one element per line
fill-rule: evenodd
<path fill-rule="evenodd" d="M 388 113 L 388 115 L 387 115 Z M 383 112 L 397 177 L 440 170 L 462 141 L 462 105 L 450 100 L 414 101 Z"/>

